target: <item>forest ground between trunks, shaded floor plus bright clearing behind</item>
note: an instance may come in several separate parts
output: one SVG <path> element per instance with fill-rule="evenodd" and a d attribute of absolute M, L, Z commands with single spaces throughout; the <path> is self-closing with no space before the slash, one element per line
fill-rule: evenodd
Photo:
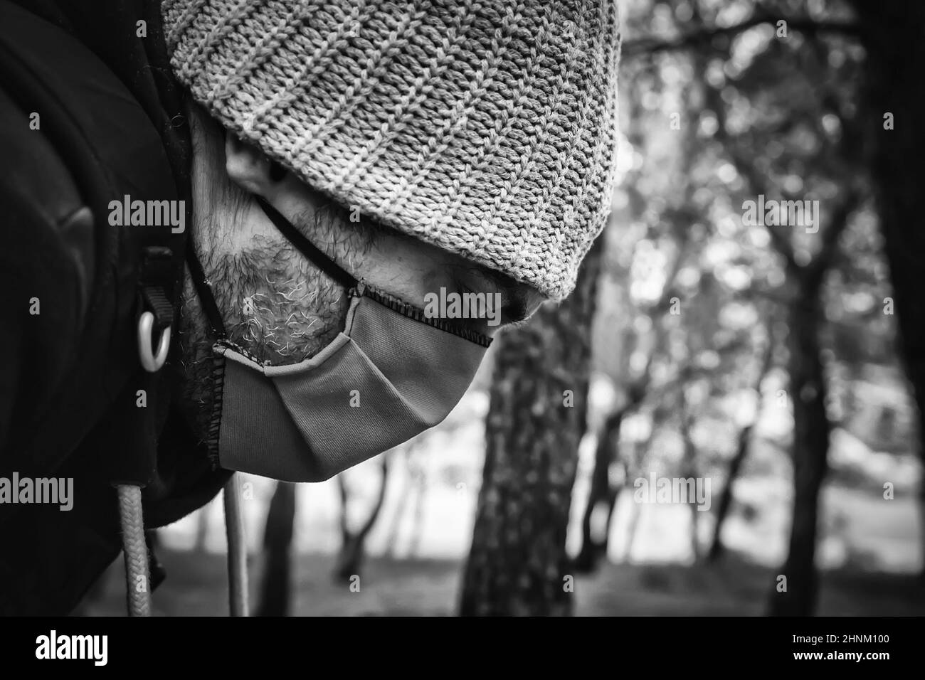
<path fill-rule="evenodd" d="M 481 480 L 484 394 L 470 392 L 458 417 L 417 444 L 391 451 L 382 513 L 367 541 L 360 592 L 331 579 L 339 549 L 336 481 L 300 485 L 294 533 L 296 614 L 438 614 L 455 611 L 462 564 L 469 550 Z M 741 614 L 764 612 L 776 569 L 786 558 L 793 487 L 789 457 L 779 446 L 786 424 L 771 423 L 750 452 L 735 485 L 723 525 L 727 559 L 715 566 L 692 552 L 691 518 L 697 517 L 701 554 L 709 546 L 716 504 L 725 479 L 722 457 L 706 467 L 712 503 L 694 512 L 683 503 L 638 502 L 632 483 L 623 490 L 611 523 L 609 560 L 598 574 L 575 579 L 578 615 Z M 718 439 L 714 437 L 714 439 Z M 580 548 L 580 522 L 595 441 L 583 442 L 567 550 Z M 676 474 L 670 451 L 657 451 L 651 471 Z M 838 429 L 830 451 L 832 471 L 820 494 L 817 563 L 822 570 L 818 613 L 830 615 L 925 614 L 922 527 L 918 510 L 919 461 L 911 455 L 871 451 Z M 648 474 L 648 470 L 646 471 Z M 377 460 L 344 474 L 351 525 L 372 507 L 381 469 Z M 629 480 L 632 482 L 632 480 Z M 252 560 L 252 590 L 260 578 L 270 480 L 241 476 L 242 507 Z M 889 487 L 889 492 L 884 490 Z M 596 518 L 597 522 L 598 518 Z M 159 530 L 157 553 L 167 580 L 154 594 L 164 615 L 228 612 L 225 531 L 220 500 Z M 122 569 L 106 579 L 102 600 L 86 613 L 125 610 Z M 253 596 L 255 598 L 255 595 Z"/>

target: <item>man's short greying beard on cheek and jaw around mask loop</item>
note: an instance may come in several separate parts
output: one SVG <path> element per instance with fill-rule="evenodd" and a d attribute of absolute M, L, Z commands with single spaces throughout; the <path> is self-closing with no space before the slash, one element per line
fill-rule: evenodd
<path fill-rule="evenodd" d="M 203 268 L 228 340 L 265 365 L 299 363 L 323 350 L 344 328 L 347 291 L 281 237 L 255 236 L 249 247 L 236 253 L 213 251 Z M 215 340 L 187 272 L 175 398 L 200 440 L 206 438 L 213 416 Z"/>

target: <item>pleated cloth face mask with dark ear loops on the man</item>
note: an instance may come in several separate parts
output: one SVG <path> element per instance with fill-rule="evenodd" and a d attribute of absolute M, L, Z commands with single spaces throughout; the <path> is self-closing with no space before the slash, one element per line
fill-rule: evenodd
<path fill-rule="evenodd" d="M 288 482 L 321 481 L 440 423 L 460 401 L 491 339 L 427 318 L 342 269 L 262 198 L 266 216 L 348 290 L 338 337 L 294 365 L 262 365 L 228 340 L 203 268 L 193 282 L 216 344 L 213 462 Z"/>

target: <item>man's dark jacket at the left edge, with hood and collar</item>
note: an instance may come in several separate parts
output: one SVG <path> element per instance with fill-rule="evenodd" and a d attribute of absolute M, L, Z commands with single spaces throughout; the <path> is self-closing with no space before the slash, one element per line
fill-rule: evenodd
<path fill-rule="evenodd" d="M 0 614 L 63 614 L 121 550 L 114 484 L 156 527 L 229 476 L 170 402 L 174 352 L 138 356 L 142 312 L 176 328 L 192 226 L 158 3 L 0 0 L 0 159 L 0 477 L 74 480 L 69 512 L 0 503 Z M 111 226 L 125 195 L 183 200 L 186 230 Z"/>

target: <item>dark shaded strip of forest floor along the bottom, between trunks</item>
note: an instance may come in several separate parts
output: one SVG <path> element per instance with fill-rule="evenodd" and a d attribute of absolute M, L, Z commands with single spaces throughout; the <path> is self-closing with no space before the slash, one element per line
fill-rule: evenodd
<path fill-rule="evenodd" d="M 161 550 L 167 581 L 154 593 L 154 614 L 228 614 L 226 562 L 222 555 Z M 299 556 L 297 615 L 451 615 L 459 597 L 462 563 L 454 560 L 371 558 L 360 591 L 331 578 L 330 555 Z M 121 564 L 114 565 L 93 615 L 125 612 Z M 716 566 L 612 564 L 575 579 L 575 614 L 585 616 L 759 615 L 767 602 L 771 569 L 735 556 Z M 925 585 L 914 575 L 833 570 L 821 575 L 820 615 L 925 615 Z M 252 583 L 252 598 L 256 597 Z"/>

